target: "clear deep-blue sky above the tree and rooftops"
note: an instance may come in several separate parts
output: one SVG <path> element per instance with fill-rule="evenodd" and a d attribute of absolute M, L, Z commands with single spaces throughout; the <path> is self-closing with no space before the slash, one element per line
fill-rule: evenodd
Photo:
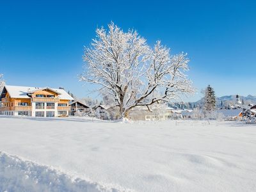
<path fill-rule="evenodd" d="M 0 73 L 7 84 L 62 86 L 92 97 L 77 81 L 83 46 L 111 20 L 150 45 L 161 40 L 173 54 L 188 52 L 198 91 L 211 84 L 217 96 L 256 95 L 255 1 L 0 0 Z"/>

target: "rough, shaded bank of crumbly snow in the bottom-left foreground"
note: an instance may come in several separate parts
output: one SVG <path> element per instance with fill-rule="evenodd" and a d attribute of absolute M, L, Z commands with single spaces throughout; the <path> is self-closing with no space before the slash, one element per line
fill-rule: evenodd
<path fill-rule="evenodd" d="M 0 191 L 125 191 L 102 186 L 0 151 Z"/>

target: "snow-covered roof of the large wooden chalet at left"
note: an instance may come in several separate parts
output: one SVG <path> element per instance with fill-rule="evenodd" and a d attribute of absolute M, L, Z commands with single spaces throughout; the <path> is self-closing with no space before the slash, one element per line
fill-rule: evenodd
<path fill-rule="evenodd" d="M 38 87 L 30 87 L 30 86 L 11 86 L 6 85 L 4 86 L 6 91 L 10 94 L 11 98 L 22 98 L 22 99 L 29 99 L 28 93 L 33 93 L 38 90 L 51 90 L 52 92 L 58 93 L 59 99 L 65 99 L 65 100 L 74 100 L 73 97 L 68 95 L 68 93 L 63 89 L 56 89 L 56 88 L 38 88 Z"/>

